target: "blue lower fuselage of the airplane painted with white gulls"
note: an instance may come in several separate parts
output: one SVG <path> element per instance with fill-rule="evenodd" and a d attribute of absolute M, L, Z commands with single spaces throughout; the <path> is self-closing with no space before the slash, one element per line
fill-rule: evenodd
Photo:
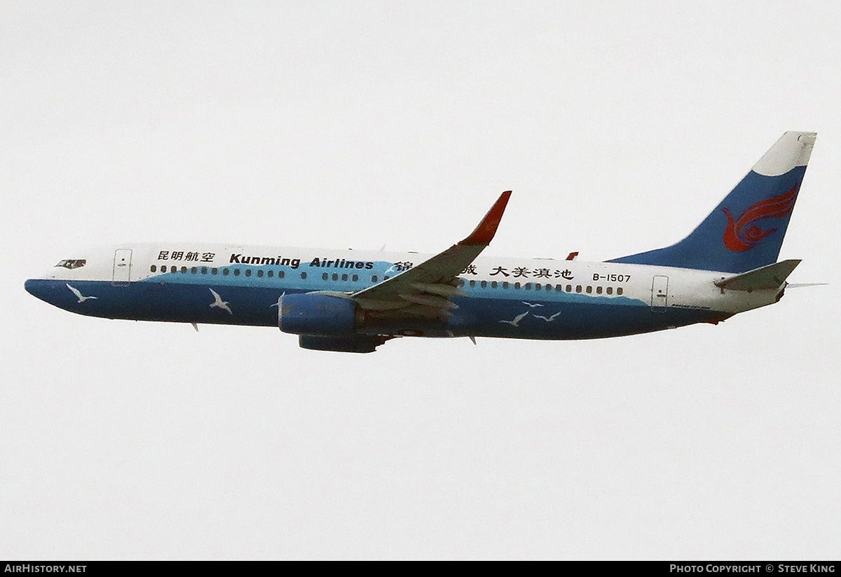
<path fill-rule="evenodd" d="M 297 279 L 296 279 L 297 280 Z M 333 286 L 330 281 L 296 283 L 289 278 L 231 278 L 157 275 L 141 281 L 26 281 L 26 290 L 45 302 L 79 314 L 142 321 L 214 323 L 261 327 L 278 326 L 278 297 L 309 291 L 348 291 L 364 287 Z M 569 293 L 528 285 L 514 288 L 463 286 L 464 295 L 452 297 L 458 308 L 447 320 L 403 318 L 380 322 L 372 315 L 357 333 L 426 337 L 504 337 L 579 339 L 648 333 L 693 323 L 715 323 L 726 313 L 689 308 L 655 309 L 650 302 L 624 296 Z M 211 307 L 217 292 L 230 312 Z"/>

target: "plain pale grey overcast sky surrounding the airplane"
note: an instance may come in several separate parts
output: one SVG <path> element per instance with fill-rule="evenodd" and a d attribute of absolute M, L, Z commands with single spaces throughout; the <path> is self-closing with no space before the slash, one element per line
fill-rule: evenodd
<path fill-rule="evenodd" d="M 0 558 L 836 559 L 833 2 L 0 3 Z M 314 353 L 24 291 L 220 241 L 604 260 L 817 144 L 767 307 Z"/>

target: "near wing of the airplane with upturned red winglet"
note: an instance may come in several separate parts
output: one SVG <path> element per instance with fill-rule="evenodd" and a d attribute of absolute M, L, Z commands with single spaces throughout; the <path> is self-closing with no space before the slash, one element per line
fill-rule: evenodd
<path fill-rule="evenodd" d="M 363 310 L 388 317 L 449 317 L 457 307 L 450 297 L 462 294 L 458 275 L 494 238 L 510 196 L 511 191 L 503 192 L 468 238 L 388 281 L 354 293 L 352 299 Z"/>

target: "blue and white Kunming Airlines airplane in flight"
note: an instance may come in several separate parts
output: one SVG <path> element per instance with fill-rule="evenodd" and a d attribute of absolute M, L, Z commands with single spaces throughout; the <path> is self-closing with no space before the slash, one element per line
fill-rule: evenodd
<path fill-rule="evenodd" d="M 371 353 L 399 337 L 582 339 L 717 324 L 778 302 L 777 262 L 815 133 L 786 132 L 676 244 L 602 262 L 482 256 L 510 191 L 438 254 L 204 243 L 70 253 L 25 281 L 91 317 L 277 327 L 304 349 Z M 792 285 L 793 286 L 793 285 Z"/>

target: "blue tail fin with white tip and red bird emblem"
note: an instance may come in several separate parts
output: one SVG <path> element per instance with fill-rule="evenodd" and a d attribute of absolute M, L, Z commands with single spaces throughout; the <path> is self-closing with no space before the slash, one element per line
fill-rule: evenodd
<path fill-rule="evenodd" d="M 787 132 L 678 244 L 608 262 L 742 273 L 776 262 L 815 133 Z"/>

